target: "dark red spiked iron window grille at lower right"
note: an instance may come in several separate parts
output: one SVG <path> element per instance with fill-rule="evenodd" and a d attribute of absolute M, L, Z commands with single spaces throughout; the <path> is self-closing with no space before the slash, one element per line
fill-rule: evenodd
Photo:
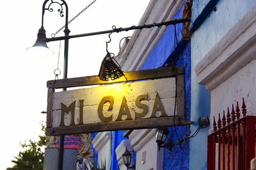
<path fill-rule="evenodd" d="M 239 104 L 236 110 L 228 108 L 227 116 L 219 113 L 216 123 L 213 120 L 213 131 L 208 136 L 207 169 L 208 170 L 247 170 L 250 169 L 250 160 L 255 157 L 255 116 L 246 116 L 246 105 Z"/>

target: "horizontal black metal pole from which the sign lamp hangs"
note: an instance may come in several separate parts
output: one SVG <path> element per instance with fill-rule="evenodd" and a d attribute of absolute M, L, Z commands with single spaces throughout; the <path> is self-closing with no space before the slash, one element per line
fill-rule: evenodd
<path fill-rule="evenodd" d="M 144 29 L 144 28 L 151 28 L 151 27 L 161 27 L 163 25 L 175 25 L 179 23 L 184 23 L 184 22 L 190 22 L 191 20 L 189 18 L 182 18 L 182 19 L 176 19 L 176 20 L 170 20 L 166 22 L 159 22 L 159 23 L 154 23 L 154 24 L 147 24 L 147 25 L 139 25 L 139 26 L 131 26 L 131 27 L 126 27 L 126 28 L 116 28 L 116 29 L 111 29 L 107 31 L 99 31 L 99 32 L 90 32 L 90 33 L 85 33 L 85 34 L 76 34 L 72 36 L 60 36 L 56 38 L 46 38 L 46 42 L 50 41 L 60 41 L 63 39 L 71 39 L 71 38 L 79 38 L 79 37 L 84 37 L 84 36 L 95 36 L 99 34 L 109 34 L 111 32 L 122 32 L 122 31 L 130 31 L 134 29 Z"/>

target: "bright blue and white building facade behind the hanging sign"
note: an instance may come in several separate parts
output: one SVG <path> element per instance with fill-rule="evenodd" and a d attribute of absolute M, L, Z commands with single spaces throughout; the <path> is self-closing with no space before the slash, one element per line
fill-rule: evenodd
<path fill-rule="evenodd" d="M 191 14 L 190 1 L 150 1 L 147 10 L 138 25 L 164 22 L 179 18 L 189 18 Z M 186 16 L 188 15 L 188 16 Z M 190 82 L 191 82 L 191 43 L 184 36 L 185 24 L 153 27 L 134 31 L 131 39 L 125 41 L 121 55 L 117 58 L 123 71 L 155 69 L 164 66 L 183 66 L 186 81 L 186 118 L 190 119 Z M 177 40 L 175 39 L 175 30 Z M 189 125 L 169 127 L 170 138 L 177 141 L 189 136 Z M 92 141 L 98 155 L 98 164 L 107 161 L 107 169 L 127 169 L 122 154 L 125 149 L 132 152 L 136 169 L 188 169 L 189 168 L 189 139 L 182 146 L 173 146 L 158 150 L 156 143 L 157 129 L 142 129 L 134 131 L 100 132 Z M 104 136 L 104 137 L 103 137 Z M 105 145 L 101 138 L 107 138 Z M 108 147 L 106 147 L 108 145 Z M 108 148 L 108 149 L 106 149 Z M 109 149 L 111 148 L 111 149 Z M 104 156 L 103 156 L 104 155 Z"/>

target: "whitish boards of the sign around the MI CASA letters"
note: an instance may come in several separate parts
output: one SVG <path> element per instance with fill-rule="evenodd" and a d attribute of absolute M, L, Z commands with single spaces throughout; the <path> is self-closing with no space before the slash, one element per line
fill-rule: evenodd
<path fill-rule="evenodd" d="M 143 110 L 138 108 L 135 104 L 136 97 L 148 94 L 148 101 L 141 101 L 143 104 L 147 104 L 148 113 L 143 118 L 149 118 L 151 116 L 156 94 L 159 94 L 161 98 L 161 103 L 163 104 L 164 110 L 168 116 L 172 116 L 175 108 L 175 78 L 163 78 L 157 80 L 147 80 L 147 81 L 137 81 L 132 83 L 119 83 L 115 85 L 104 85 L 99 87 L 85 88 L 68 90 L 63 92 L 54 92 L 53 103 L 52 103 L 52 114 L 53 114 L 53 127 L 58 127 L 60 125 L 61 118 L 61 103 L 69 106 L 71 103 L 76 101 L 75 108 L 75 122 L 79 124 L 79 111 L 80 99 L 84 100 L 83 103 L 83 122 L 84 124 L 92 124 L 101 122 L 98 117 L 98 106 L 100 100 L 105 96 L 113 96 L 114 104 L 113 110 L 108 111 L 109 103 L 103 105 L 103 114 L 105 117 L 111 117 L 113 115 L 113 120 L 115 121 L 118 117 L 118 112 L 120 110 L 120 105 L 122 99 L 125 96 L 127 106 L 131 113 L 132 118 L 135 117 L 135 112 L 141 113 Z M 157 111 L 157 116 L 161 114 Z M 184 113 L 183 113 L 184 114 Z M 123 116 L 122 120 L 126 117 Z M 65 114 L 65 125 L 69 125 L 71 120 L 71 115 Z"/>

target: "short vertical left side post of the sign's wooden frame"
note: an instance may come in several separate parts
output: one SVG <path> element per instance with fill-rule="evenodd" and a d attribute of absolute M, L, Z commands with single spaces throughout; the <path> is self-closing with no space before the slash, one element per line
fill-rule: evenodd
<path fill-rule="evenodd" d="M 47 127 L 52 127 L 52 96 L 54 93 L 54 89 L 49 88 L 48 89 L 48 94 L 47 94 L 47 117 L 46 117 L 46 126 Z"/>

